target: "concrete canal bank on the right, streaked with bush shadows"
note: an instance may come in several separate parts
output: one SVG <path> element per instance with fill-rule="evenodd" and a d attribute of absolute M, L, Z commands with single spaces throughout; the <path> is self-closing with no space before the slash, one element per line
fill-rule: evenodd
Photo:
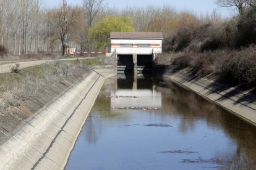
<path fill-rule="evenodd" d="M 211 76 L 203 78 L 192 76 L 189 69 L 176 73 L 166 72 L 163 76 L 256 126 L 256 96 L 250 91 L 240 91 L 236 87 L 217 83 Z"/>

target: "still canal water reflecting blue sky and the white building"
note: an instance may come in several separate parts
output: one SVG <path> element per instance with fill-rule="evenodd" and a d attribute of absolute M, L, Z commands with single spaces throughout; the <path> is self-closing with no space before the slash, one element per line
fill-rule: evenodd
<path fill-rule="evenodd" d="M 66 169 L 256 169 L 256 129 L 168 80 L 106 80 Z"/>

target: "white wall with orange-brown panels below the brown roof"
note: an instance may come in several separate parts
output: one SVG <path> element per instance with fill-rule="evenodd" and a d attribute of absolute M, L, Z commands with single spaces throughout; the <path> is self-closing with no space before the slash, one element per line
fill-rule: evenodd
<path fill-rule="evenodd" d="M 124 44 L 132 44 L 124 46 Z M 141 47 L 142 44 L 150 46 Z M 111 52 L 116 49 L 117 54 L 155 54 L 162 53 L 162 39 L 111 39 Z"/>

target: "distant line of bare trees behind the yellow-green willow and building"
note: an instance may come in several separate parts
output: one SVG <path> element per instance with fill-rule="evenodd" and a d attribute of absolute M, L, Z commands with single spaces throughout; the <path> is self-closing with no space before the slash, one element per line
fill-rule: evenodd
<path fill-rule="evenodd" d="M 60 52 L 62 45 L 76 47 L 78 51 L 101 51 L 103 47 L 97 49 L 98 44 L 92 43 L 92 38 L 90 41 L 89 30 L 109 16 L 128 17 L 133 30 L 162 31 L 166 38 L 180 28 L 221 20 L 216 12 L 197 17 L 193 12 L 169 6 L 111 9 L 103 0 L 83 0 L 83 6 L 67 6 L 66 10 L 62 6 L 43 9 L 40 0 L 1 1 L 1 48 L 14 55 Z"/>

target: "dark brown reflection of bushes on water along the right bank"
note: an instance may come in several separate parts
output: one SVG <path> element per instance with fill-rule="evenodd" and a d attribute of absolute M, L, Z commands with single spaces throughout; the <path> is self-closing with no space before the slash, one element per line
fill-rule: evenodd
<path fill-rule="evenodd" d="M 219 161 L 225 168 L 255 168 L 256 167 L 256 128 L 245 121 L 231 115 L 228 111 L 209 103 L 202 97 L 188 92 L 186 89 L 178 87 L 168 81 L 169 93 L 163 96 L 164 110 L 171 110 L 174 115 L 182 116 L 180 131 L 183 133 L 194 129 L 197 119 L 203 119 L 211 128 L 218 128 L 236 143 L 236 150 L 233 154 L 217 153 L 220 158 L 226 161 Z M 164 87 L 159 87 L 159 91 L 166 92 Z M 168 104 L 173 103 L 173 104 Z M 192 161 L 193 162 L 193 161 Z M 195 162 L 194 162 L 195 163 Z"/>

